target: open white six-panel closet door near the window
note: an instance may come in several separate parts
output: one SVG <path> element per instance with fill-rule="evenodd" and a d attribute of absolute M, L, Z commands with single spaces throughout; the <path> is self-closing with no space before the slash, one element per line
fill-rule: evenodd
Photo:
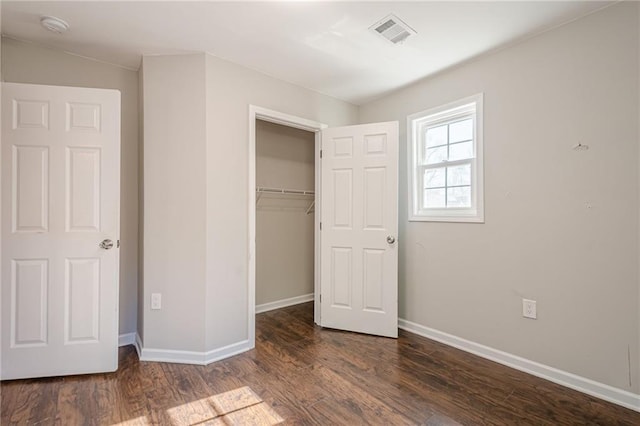
<path fill-rule="evenodd" d="M 398 122 L 322 131 L 321 325 L 398 336 Z"/>

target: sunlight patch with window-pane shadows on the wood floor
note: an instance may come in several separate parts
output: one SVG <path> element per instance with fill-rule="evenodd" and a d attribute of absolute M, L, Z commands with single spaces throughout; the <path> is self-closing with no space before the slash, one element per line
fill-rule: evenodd
<path fill-rule="evenodd" d="M 173 426 L 275 425 L 284 420 L 248 386 L 167 410 Z"/>

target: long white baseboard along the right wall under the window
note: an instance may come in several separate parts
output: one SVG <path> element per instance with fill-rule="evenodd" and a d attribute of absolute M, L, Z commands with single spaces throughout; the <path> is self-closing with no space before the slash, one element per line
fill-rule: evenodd
<path fill-rule="evenodd" d="M 524 371 L 525 373 L 640 412 L 640 395 L 638 394 L 614 388 L 604 383 L 599 383 L 567 371 L 549 367 L 548 365 L 521 358 L 498 349 L 493 349 L 405 319 L 398 320 L 398 327 L 428 339 L 444 343 L 445 345 L 453 346 L 465 352 L 470 352 L 482 358 L 495 361 L 499 364 L 515 368 L 516 370 Z"/>

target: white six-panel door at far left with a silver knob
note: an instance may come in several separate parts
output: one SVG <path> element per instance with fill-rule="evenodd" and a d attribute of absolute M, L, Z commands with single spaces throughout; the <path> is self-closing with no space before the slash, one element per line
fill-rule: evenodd
<path fill-rule="evenodd" d="M 3 83 L 2 379 L 117 369 L 119 212 L 120 92 Z"/>

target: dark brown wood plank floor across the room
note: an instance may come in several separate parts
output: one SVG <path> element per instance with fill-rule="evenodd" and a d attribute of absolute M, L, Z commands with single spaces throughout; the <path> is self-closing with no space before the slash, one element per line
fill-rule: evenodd
<path fill-rule="evenodd" d="M 410 333 L 321 329 L 312 303 L 260 314 L 256 330 L 255 350 L 206 367 L 139 362 L 127 346 L 115 373 L 2 382 L 0 423 L 640 425 L 640 413 Z M 207 422 L 229 391 L 270 412 Z"/>

